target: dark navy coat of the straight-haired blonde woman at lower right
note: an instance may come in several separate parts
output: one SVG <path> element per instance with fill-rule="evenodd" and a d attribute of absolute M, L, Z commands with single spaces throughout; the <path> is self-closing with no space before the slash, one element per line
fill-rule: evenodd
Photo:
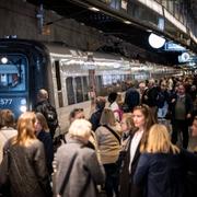
<path fill-rule="evenodd" d="M 197 157 L 181 153 L 142 153 L 134 176 L 144 197 L 184 197 L 188 169 L 196 171 Z"/>

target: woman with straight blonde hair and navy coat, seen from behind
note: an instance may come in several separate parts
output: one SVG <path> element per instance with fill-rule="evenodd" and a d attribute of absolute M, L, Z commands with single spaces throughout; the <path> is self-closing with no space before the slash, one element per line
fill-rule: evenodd
<path fill-rule="evenodd" d="M 146 147 L 134 176 L 144 187 L 144 197 L 182 197 L 187 171 L 186 154 L 171 142 L 164 125 L 155 124 L 149 131 Z"/>

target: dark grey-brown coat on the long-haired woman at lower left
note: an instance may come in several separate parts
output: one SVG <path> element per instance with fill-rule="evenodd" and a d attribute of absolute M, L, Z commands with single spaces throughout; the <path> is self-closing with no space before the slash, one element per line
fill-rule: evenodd
<path fill-rule="evenodd" d="M 10 150 L 8 154 L 7 150 Z M 1 164 L 8 164 L 10 157 L 10 184 L 13 197 L 49 197 L 51 189 L 49 185 L 44 146 L 37 139 L 28 147 L 10 144 L 4 146 L 4 155 Z"/>

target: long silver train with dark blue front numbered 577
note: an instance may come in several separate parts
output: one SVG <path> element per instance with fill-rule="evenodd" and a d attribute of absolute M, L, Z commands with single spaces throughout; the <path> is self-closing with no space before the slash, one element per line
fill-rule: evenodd
<path fill-rule="evenodd" d="M 39 89 L 46 89 L 66 128 L 76 107 L 89 116 L 91 95 L 124 92 L 128 80 L 183 74 L 181 69 L 140 62 L 120 55 L 83 51 L 63 43 L 0 39 L 0 108 L 16 117 L 32 111 Z"/>

